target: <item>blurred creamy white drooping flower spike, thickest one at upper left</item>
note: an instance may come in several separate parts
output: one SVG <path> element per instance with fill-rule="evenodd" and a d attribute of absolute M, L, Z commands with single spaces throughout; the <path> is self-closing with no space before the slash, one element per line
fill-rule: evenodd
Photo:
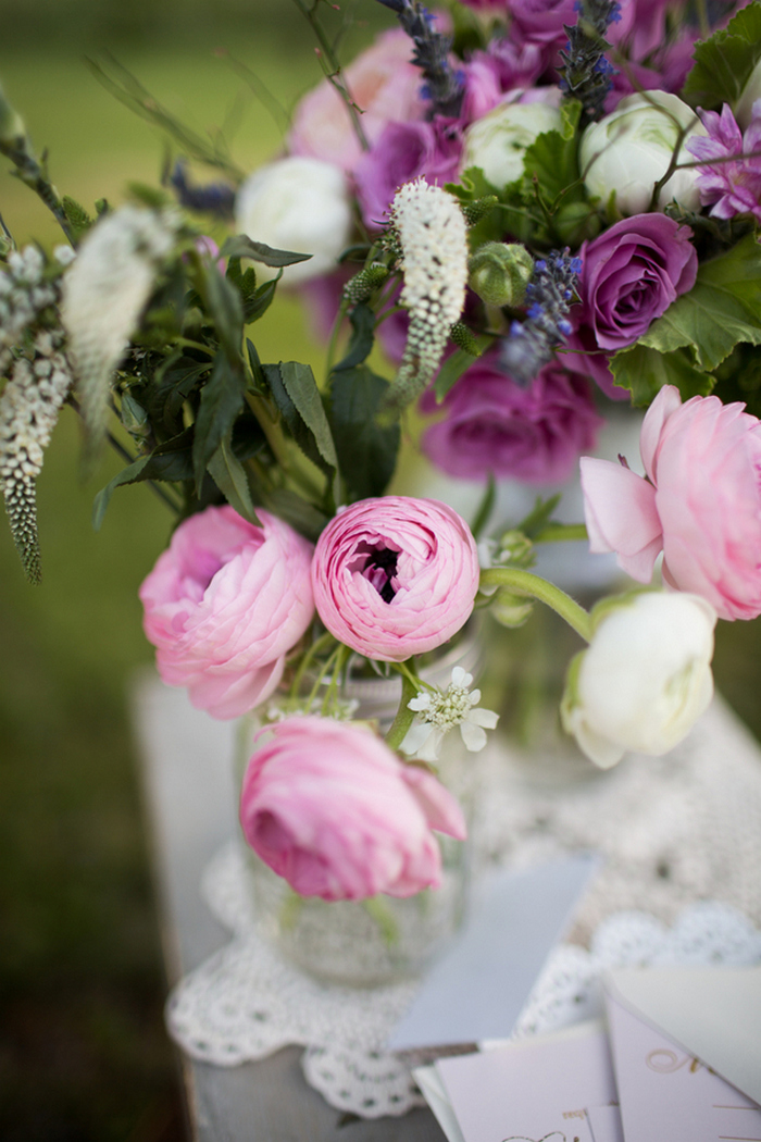
<path fill-rule="evenodd" d="M 64 278 L 60 316 L 76 365 L 82 415 L 94 441 L 105 432 L 113 373 L 178 225 L 175 211 L 121 207 L 89 232 Z"/>

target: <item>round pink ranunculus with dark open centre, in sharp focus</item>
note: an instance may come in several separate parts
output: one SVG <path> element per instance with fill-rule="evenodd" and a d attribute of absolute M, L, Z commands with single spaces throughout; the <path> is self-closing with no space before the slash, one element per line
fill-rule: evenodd
<path fill-rule="evenodd" d="M 367 658 L 402 662 L 468 620 L 478 590 L 468 524 L 438 500 L 359 500 L 317 540 L 311 585 L 331 634 Z"/>

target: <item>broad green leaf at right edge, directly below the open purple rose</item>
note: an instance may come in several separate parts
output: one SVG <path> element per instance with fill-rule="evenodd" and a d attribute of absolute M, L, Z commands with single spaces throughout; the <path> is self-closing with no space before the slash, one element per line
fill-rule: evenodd
<path fill-rule="evenodd" d="M 693 289 L 610 368 L 635 404 L 649 403 L 663 385 L 677 385 L 682 397 L 704 395 L 739 343 L 761 345 L 761 248 L 752 234 L 704 263 Z"/>

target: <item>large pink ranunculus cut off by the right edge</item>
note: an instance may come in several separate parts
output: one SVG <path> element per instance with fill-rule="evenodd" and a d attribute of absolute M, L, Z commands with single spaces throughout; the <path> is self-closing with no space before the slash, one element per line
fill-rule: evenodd
<path fill-rule="evenodd" d="M 761 614 L 761 421 L 740 403 L 665 385 L 642 423 L 646 476 L 584 457 L 584 510 L 592 552 L 648 582 L 663 577 L 702 595 L 722 619 Z"/>

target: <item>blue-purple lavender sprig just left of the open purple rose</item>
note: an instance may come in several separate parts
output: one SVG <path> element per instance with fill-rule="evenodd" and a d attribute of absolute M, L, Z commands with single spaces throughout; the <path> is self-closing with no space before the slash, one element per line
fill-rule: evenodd
<path fill-rule="evenodd" d="M 502 364 L 521 385 L 528 385 L 554 349 L 573 332 L 568 309 L 574 300 L 581 258 L 572 258 L 568 248 L 553 250 L 534 263 L 534 274 L 526 287 L 526 321 L 513 321 L 510 336 L 502 341 Z"/>

